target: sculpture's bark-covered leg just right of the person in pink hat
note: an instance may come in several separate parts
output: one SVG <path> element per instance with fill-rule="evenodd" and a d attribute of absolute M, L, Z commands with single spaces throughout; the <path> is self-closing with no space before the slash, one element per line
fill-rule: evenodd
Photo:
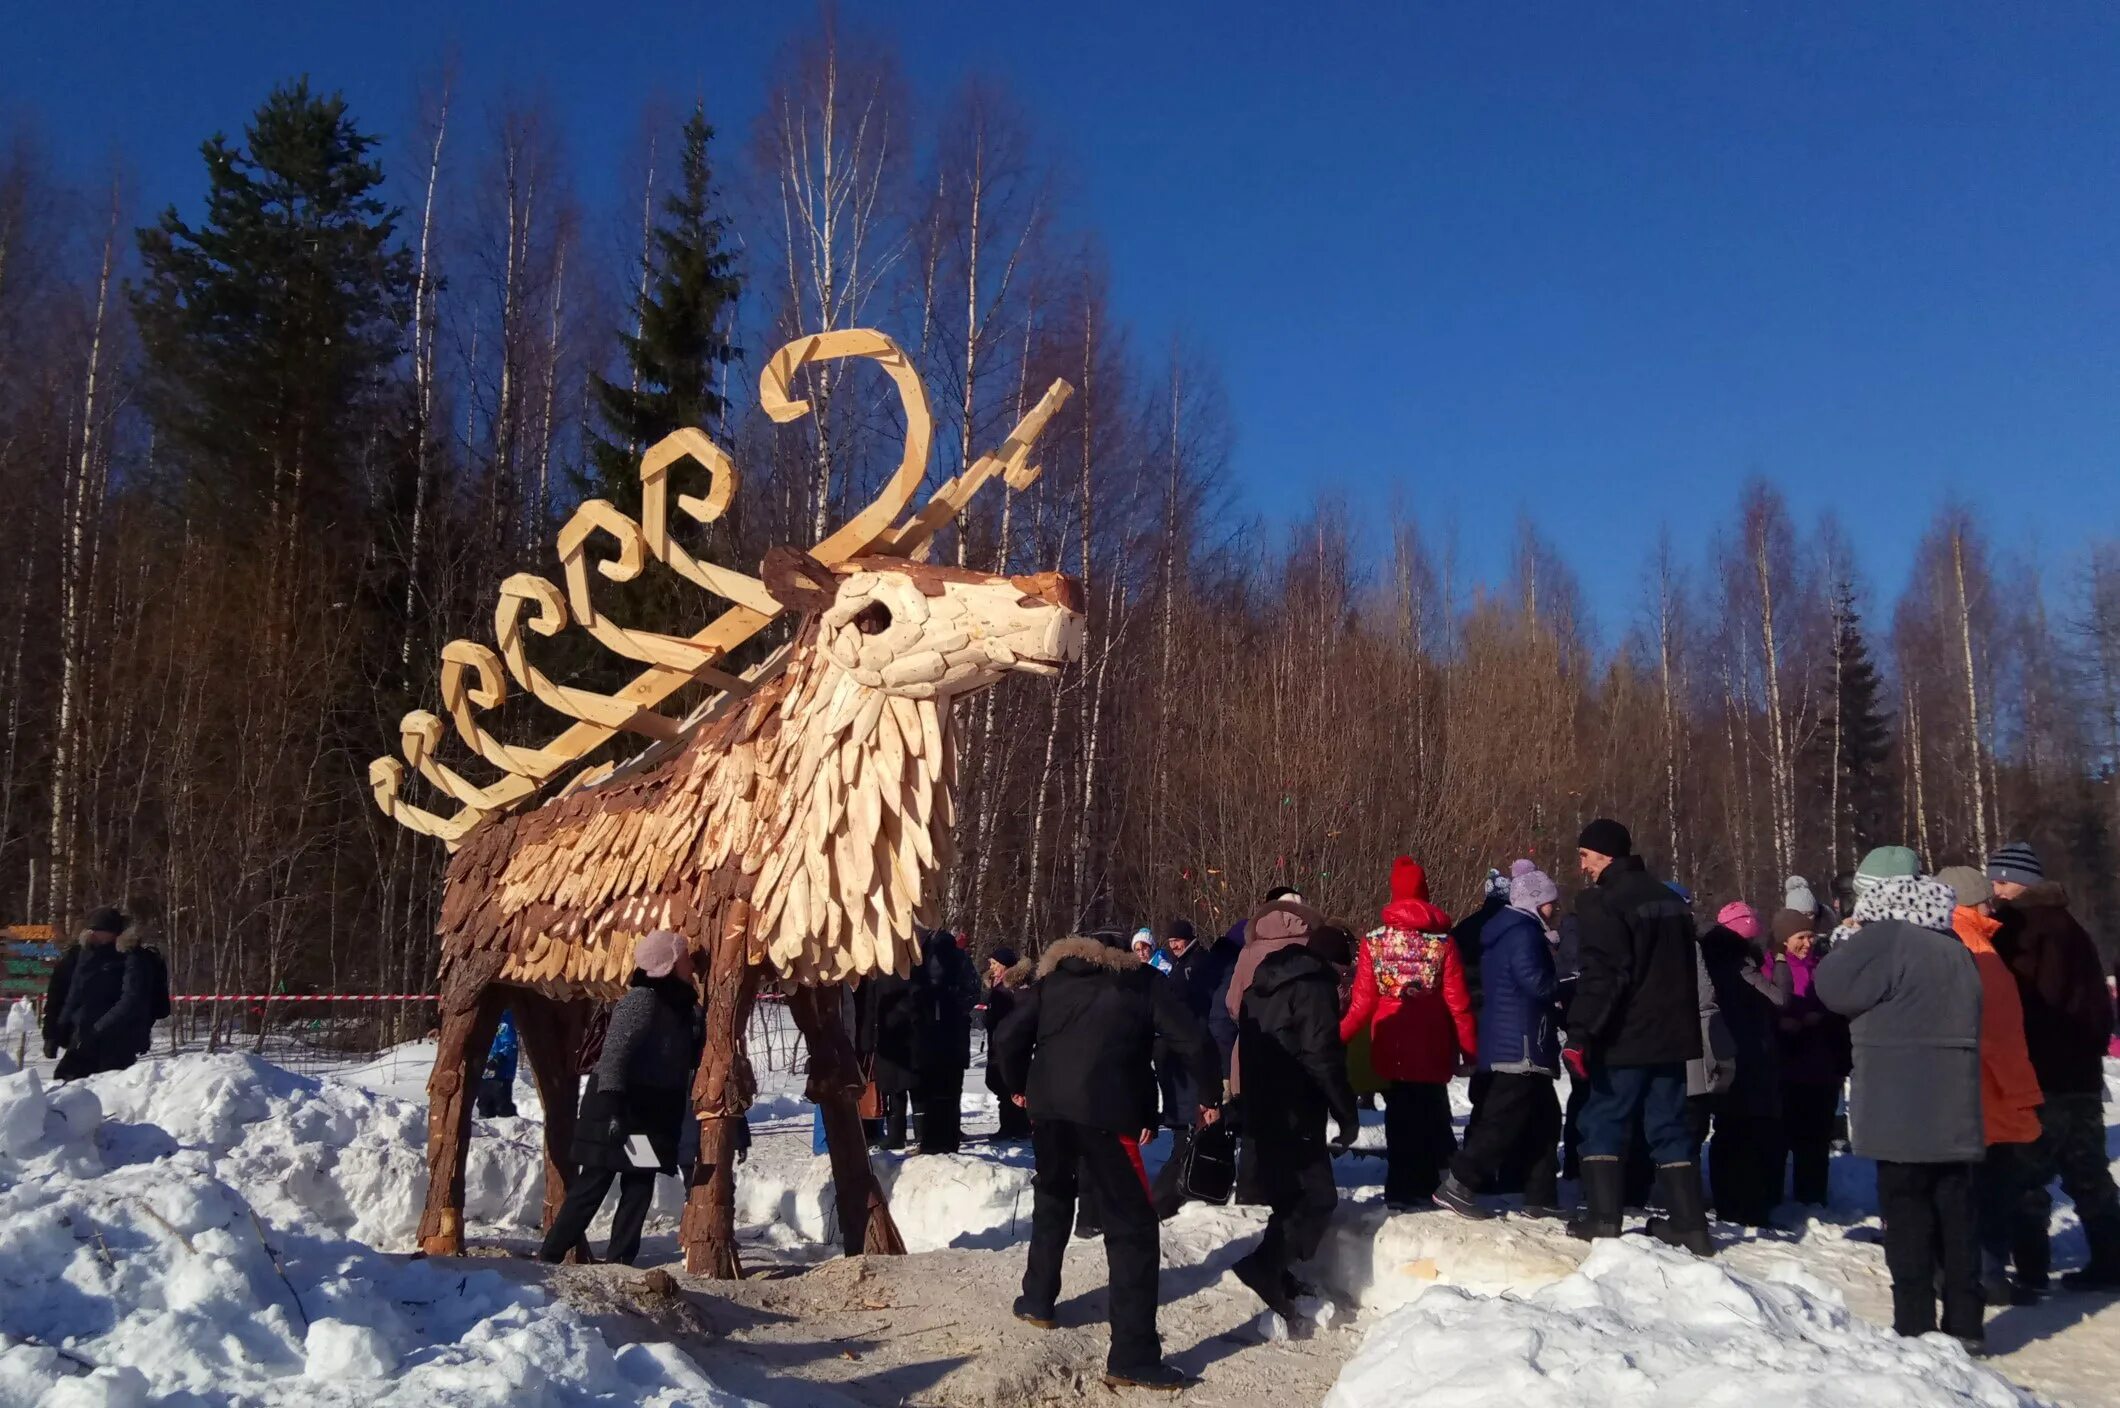
<path fill-rule="evenodd" d="M 742 935 L 725 937 L 706 973 L 706 1052 L 691 1088 L 700 1115 L 700 1160 L 685 1181 L 685 1219 L 678 1224 L 685 1270 L 719 1281 L 744 1274 L 736 1257 L 736 1124 L 750 1109 L 757 1088 L 744 1054 L 753 992 Z"/>

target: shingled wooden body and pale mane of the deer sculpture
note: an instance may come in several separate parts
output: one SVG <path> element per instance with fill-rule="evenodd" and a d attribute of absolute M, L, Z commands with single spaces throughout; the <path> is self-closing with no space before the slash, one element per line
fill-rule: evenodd
<path fill-rule="evenodd" d="M 674 744 L 475 831 L 449 865 L 445 965 L 494 952 L 502 982 L 615 988 L 640 935 L 706 952 L 691 927 L 742 895 L 748 958 L 782 978 L 907 973 L 954 821 L 948 702 L 867 689 L 816 638 L 808 621 Z"/>

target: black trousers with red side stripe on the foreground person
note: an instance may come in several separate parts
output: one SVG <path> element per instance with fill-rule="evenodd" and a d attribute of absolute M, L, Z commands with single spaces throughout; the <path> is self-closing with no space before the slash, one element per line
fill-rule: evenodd
<path fill-rule="evenodd" d="M 1024 1300 L 1039 1315 L 1060 1302 L 1060 1260 L 1075 1230 L 1075 1198 L 1092 1192 L 1105 1224 L 1109 1266 L 1113 1370 L 1160 1363 L 1155 1334 L 1158 1270 L 1155 1209 L 1149 1183 L 1126 1143 L 1109 1130 L 1066 1120 L 1039 1120 L 1030 1130 L 1037 1177 L 1030 1181 L 1030 1260 L 1024 1266 Z"/>

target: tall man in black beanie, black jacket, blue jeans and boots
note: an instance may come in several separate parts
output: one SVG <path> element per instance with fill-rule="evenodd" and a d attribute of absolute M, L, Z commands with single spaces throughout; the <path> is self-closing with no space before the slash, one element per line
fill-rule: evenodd
<path fill-rule="evenodd" d="M 1569 1234 L 1620 1236 L 1624 1158 L 1641 1120 L 1668 1209 L 1651 1232 L 1711 1255 L 1700 1164 L 1685 1124 L 1685 1064 L 1700 1058 L 1692 912 L 1649 874 L 1618 821 L 1592 821 L 1575 844 L 1590 886 L 1575 899 L 1582 973 L 1562 1060 L 1590 1094 L 1582 1111 L 1584 1213 Z"/>

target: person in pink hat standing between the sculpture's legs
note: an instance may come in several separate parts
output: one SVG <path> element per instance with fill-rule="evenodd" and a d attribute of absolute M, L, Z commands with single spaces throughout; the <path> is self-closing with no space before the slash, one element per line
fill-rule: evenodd
<path fill-rule="evenodd" d="M 606 1262 L 632 1266 L 640 1228 L 655 1200 L 655 1175 L 678 1171 L 685 1092 L 700 1064 L 700 995 L 685 939 L 657 929 L 634 946 L 634 975 L 611 1009 L 604 1052 L 581 1092 L 575 1122 L 575 1177 L 551 1219 L 541 1262 L 560 1262 L 581 1245 L 589 1221 L 619 1185 Z M 644 1141 L 644 1149 L 642 1149 Z"/>

